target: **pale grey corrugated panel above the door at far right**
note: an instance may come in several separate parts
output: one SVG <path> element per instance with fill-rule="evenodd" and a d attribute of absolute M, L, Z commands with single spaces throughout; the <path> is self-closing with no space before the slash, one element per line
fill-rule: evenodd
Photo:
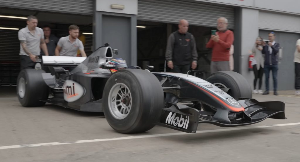
<path fill-rule="evenodd" d="M 259 29 L 300 33 L 300 17 L 259 11 Z"/>

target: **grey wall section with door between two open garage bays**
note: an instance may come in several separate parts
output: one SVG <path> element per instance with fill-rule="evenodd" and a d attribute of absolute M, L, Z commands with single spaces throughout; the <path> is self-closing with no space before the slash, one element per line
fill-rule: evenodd
<path fill-rule="evenodd" d="M 123 10 L 111 4 L 124 5 Z M 94 12 L 94 49 L 110 43 L 128 65 L 137 64 L 137 0 L 96 0 Z"/>

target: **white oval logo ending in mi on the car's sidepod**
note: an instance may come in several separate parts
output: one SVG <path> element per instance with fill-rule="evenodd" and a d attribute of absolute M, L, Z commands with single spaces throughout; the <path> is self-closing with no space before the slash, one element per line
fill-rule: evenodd
<path fill-rule="evenodd" d="M 67 102 L 73 102 L 78 100 L 84 94 L 84 88 L 73 80 L 66 80 L 63 85 L 64 88 L 64 100 Z"/>

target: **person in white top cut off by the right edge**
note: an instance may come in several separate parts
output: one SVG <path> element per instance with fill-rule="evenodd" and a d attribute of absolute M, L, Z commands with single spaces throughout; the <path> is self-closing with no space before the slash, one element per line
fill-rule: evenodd
<path fill-rule="evenodd" d="M 296 51 L 294 54 L 295 62 L 295 95 L 300 95 L 300 39 L 296 42 Z"/>

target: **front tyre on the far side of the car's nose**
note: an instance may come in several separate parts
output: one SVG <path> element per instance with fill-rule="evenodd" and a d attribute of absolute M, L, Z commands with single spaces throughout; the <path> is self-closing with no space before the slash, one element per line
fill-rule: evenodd
<path fill-rule="evenodd" d="M 218 71 L 211 74 L 206 81 L 219 88 L 229 88 L 228 94 L 235 100 L 238 97 L 252 98 L 252 90 L 248 81 L 234 71 Z"/>

